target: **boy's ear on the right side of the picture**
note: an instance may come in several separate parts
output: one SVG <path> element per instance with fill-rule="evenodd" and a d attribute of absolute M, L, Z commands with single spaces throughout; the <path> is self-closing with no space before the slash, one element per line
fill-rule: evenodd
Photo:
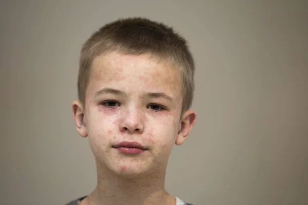
<path fill-rule="evenodd" d="M 176 145 L 182 145 L 187 138 L 191 128 L 196 123 L 196 112 L 192 110 L 186 111 L 181 119 L 181 125 L 176 139 Z"/>

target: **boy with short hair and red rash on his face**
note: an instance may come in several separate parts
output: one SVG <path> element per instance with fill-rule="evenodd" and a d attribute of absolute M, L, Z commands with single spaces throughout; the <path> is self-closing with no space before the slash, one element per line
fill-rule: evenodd
<path fill-rule="evenodd" d="M 119 19 L 92 34 L 72 110 L 77 131 L 89 137 L 97 187 L 68 204 L 185 204 L 164 186 L 172 147 L 196 121 L 194 70 L 185 39 L 161 23 Z"/>

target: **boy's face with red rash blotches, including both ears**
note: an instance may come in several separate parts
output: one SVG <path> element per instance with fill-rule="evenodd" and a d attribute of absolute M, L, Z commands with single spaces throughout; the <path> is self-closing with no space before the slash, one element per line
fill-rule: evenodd
<path fill-rule="evenodd" d="M 95 58 L 85 107 L 75 101 L 73 113 L 100 166 L 126 176 L 165 170 L 172 147 L 183 143 L 196 120 L 193 111 L 180 116 L 181 88 L 179 69 L 147 54 Z M 115 148 L 123 141 L 144 149 Z"/>

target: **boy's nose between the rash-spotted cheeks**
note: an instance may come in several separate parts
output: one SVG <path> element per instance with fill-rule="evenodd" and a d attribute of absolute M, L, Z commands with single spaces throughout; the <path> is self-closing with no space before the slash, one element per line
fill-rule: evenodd
<path fill-rule="evenodd" d="M 137 108 L 130 108 L 126 111 L 120 124 L 121 132 L 142 133 L 144 129 L 144 120 L 142 119 L 142 112 Z"/>

